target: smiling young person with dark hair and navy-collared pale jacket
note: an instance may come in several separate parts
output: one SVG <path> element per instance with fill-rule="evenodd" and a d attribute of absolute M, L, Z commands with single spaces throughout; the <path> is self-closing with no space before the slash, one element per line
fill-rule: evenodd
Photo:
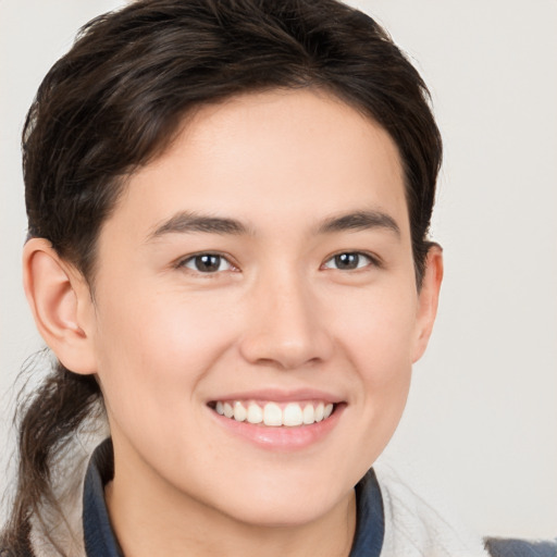
<path fill-rule="evenodd" d="M 22 422 L 16 554 L 484 555 L 370 470 L 443 274 L 438 132 L 372 20 L 135 2 L 24 137 L 25 287 L 59 362 Z"/>

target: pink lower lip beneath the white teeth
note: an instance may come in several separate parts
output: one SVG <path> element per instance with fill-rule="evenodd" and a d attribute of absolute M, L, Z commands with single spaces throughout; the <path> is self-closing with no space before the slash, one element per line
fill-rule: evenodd
<path fill-rule="evenodd" d="M 322 441 L 338 423 L 346 405 L 336 405 L 335 411 L 325 420 L 311 425 L 265 426 L 249 422 L 237 422 L 209 409 L 219 425 L 244 437 L 255 445 L 270 450 L 300 450 Z"/>

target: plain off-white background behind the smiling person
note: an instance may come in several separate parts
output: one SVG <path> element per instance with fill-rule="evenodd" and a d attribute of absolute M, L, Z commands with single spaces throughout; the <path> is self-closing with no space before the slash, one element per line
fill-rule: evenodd
<path fill-rule="evenodd" d="M 12 384 L 41 347 L 20 285 L 18 134 L 78 26 L 121 3 L 0 0 L 0 490 Z M 440 315 L 386 457 L 482 534 L 557 536 L 557 1 L 350 3 L 418 66 L 445 140 Z"/>

